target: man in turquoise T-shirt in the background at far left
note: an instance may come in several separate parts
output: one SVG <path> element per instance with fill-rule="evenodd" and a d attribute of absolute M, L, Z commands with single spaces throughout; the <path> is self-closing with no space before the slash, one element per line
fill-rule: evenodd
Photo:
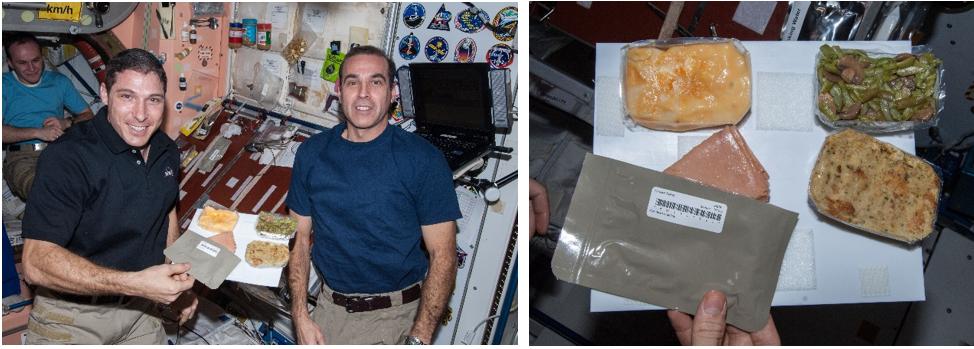
<path fill-rule="evenodd" d="M 3 39 L 7 67 L 3 73 L 3 178 L 10 190 L 27 200 L 41 150 L 75 122 L 89 120 L 88 104 L 64 75 L 44 70 L 41 44 L 33 35 L 15 32 Z M 64 108 L 76 115 L 64 118 Z"/>

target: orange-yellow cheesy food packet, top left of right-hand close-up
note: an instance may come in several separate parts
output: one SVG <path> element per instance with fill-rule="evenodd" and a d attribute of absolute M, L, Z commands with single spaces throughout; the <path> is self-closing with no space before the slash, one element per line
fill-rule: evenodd
<path fill-rule="evenodd" d="M 733 42 L 632 47 L 625 69 L 626 107 L 644 127 L 732 125 L 751 108 L 750 61 Z"/>

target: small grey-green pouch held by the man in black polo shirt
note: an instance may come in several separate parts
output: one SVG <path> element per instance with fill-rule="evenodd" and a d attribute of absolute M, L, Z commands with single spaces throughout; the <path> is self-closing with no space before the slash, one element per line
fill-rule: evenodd
<path fill-rule="evenodd" d="M 186 273 L 214 290 L 240 264 L 240 257 L 229 249 L 192 230 L 186 231 L 162 253 L 173 263 L 189 263 L 190 269 Z"/>

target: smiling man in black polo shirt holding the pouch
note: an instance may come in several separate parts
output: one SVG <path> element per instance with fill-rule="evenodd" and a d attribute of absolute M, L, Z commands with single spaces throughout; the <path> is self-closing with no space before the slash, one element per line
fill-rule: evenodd
<path fill-rule="evenodd" d="M 39 286 L 28 344 L 165 344 L 156 303 L 196 311 L 190 266 L 165 264 L 179 237 L 179 150 L 159 131 L 166 72 L 146 51 L 108 62 L 103 108 L 37 164 L 24 213 L 24 273 Z"/>

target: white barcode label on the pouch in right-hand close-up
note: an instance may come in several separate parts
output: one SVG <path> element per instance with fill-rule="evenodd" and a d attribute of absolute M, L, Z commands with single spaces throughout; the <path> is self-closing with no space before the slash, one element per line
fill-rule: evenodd
<path fill-rule="evenodd" d="M 653 187 L 646 215 L 650 218 L 720 234 L 727 217 L 727 205 Z"/>

